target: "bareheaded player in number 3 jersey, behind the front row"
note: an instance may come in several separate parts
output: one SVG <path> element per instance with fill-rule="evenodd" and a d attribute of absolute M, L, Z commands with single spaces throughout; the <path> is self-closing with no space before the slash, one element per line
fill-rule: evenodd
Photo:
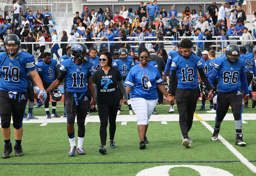
<path fill-rule="evenodd" d="M 45 52 L 43 54 L 43 59 L 44 62 L 39 62 L 37 65 L 35 65 L 35 67 L 43 82 L 44 88 L 47 89 L 57 77 L 58 63 L 57 60 L 51 59 L 51 54 L 49 52 Z M 56 113 L 57 102 L 55 102 L 54 100 L 52 100 L 52 115 L 50 115 L 49 100 L 50 96 L 49 94 L 47 94 L 47 99 L 44 101 L 46 118 L 51 119 L 52 117 L 60 117 L 60 115 Z"/>

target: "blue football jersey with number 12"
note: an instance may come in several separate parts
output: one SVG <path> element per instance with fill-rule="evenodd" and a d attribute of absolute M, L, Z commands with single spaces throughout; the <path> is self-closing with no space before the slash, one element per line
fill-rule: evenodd
<path fill-rule="evenodd" d="M 172 70 L 177 70 L 177 88 L 195 89 L 198 87 L 197 69 L 202 68 L 202 62 L 198 56 L 191 54 L 188 59 L 178 55 L 172 59 Z"/>

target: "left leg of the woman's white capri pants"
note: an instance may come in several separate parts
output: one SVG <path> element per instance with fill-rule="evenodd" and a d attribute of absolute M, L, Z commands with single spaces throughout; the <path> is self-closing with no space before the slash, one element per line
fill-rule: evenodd
<path fill-rule="evenodd" d="M 137 125 L 147 125 L 148 123 L 148 110 L 147 102 L 144 98 L 132 98 L 131 107 L 137 116 Z"/>

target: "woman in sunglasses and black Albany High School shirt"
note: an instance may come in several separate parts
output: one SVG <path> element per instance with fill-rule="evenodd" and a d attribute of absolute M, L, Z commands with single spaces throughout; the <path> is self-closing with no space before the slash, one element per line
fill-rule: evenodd
<path fill-rule="evenodd" d="M 99 135 L 101 148 L 99 148 L 99 153 L 107 154 L 106 140 L 108 121 L 109 145 L 111 148 L 116 148 L 113 140 L 116 132 L 116 113 L 120 102 L 117 84 L 125 95 L 125 103 L 128 96 L 119 70 L 112 67 L 111 53 L 102 51 L 99 55 L 99 63 L 102 68 L 93 74 L 93 86 L 97 98 L 100 119 Z"/>

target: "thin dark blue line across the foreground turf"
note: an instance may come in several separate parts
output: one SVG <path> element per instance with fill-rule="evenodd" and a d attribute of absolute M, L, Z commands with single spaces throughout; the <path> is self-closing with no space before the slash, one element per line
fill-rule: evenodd
<path fill-rule="evenodd" d="M 95 164 L 148 164 L 148 163 L 228 163 L 240 161 L 159 161 L 159 162 L 59 162 L 59 163 L 0 163 L 0 165 L 95 165 Z M 256 160 L 249 161 L 256 162 Z"/>

